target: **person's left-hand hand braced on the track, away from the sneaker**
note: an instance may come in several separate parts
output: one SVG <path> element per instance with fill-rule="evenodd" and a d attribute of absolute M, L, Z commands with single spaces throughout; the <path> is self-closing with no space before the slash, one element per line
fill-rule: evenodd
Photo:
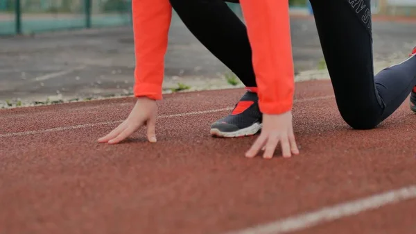
<path fill-rule="evenodd" d="M 149 142 L 156 142 L 157 103 L 147 97 L 139 97 L 135 107 L 123 123 L 114 128 L 113 131 L 98 139 L 98 142 L 117 144 L 126 137 L 137 131 L 141 126 L 146 126 Z"/>

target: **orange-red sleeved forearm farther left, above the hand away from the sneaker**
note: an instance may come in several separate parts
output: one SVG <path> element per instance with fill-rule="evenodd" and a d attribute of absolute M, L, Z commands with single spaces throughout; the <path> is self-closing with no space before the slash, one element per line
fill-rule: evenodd
<path fill-rule="evenodd" d="M 133 0 L 136 97 L 162 99 L 164 56 L 172 8 L 168 0 Z"/>

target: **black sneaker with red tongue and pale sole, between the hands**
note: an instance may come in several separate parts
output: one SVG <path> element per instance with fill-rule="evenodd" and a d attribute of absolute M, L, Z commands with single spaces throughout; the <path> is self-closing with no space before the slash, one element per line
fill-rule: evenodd
<path fill-rule="evenodd" d="M 211 124 L 214 137 L 245 137 L 261 130 L 262 115 L 259 109 L 259 97 L 255 92 L 246 92 L 232 110 L 223 119 Z"/>

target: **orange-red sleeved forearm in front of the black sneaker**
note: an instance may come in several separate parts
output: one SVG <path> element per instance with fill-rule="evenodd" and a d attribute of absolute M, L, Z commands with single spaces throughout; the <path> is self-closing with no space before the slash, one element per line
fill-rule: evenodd
<path fill-rule="evenodd" d="M 266 114 L 291 110 L 294 69 L 288 1 L 240 0 L 259 94 L 259 107 Z"/>

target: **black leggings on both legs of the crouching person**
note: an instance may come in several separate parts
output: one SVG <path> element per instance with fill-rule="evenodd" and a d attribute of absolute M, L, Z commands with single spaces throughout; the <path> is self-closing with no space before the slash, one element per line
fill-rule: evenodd
<path fill-rule="evenodd" d="M 170 1 L 216 58 L 244 85 L 257 86 L 245 25 L 223 0 Z M 341 116 L 352 128 L 376 127 L 416 85 L 416 56 L 374 77 L 370 0 L 311 0 L 311 5 Z"/>

